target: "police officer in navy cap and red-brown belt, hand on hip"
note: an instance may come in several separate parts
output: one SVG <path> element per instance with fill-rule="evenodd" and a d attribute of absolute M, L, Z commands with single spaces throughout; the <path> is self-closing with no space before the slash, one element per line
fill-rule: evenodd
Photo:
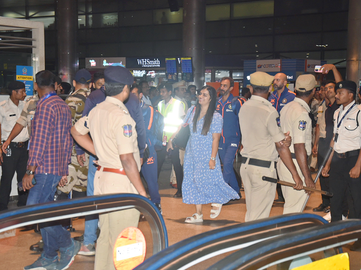
<path fill-rule="evenodd" d="M 106 99 L 82 117 L 71 129 L 77 143 L 99 158 L 94 178 L 94 195 L 134 193 L 144 197 L 140 180 L 140 156 L 135 122 L 123 101 L 129 96 L 133 76 L 124 67 L 104 71 Z M 91 138 L 87 135 L 91 134 Z M 132 208 L 99 215 L 100 236 L 95 253 L 95 270 L 114 270 L 113 247 L 121 231 L 138 226 L 139 211 Z"/>

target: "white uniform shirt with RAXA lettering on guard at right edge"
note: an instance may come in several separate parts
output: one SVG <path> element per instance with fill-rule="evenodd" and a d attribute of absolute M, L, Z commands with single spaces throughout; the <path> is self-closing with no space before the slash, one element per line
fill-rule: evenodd
<path fill-rule="evenodd" d="M 334 150 L 337 153 L 345 153 L 352 150 L 361 148 L 361 105 L 355 105 L 343 118 L 341 125 L 337 131 L 337 124 L 341 121 L 342 117 L 348 109 L 355 104 L 355 100 L 348 104 L 345 108 L 343 105 L 338 108 L 334 113 L 334 134 L 338 133 L 338 139 L 334 144 Z M 337 121 L 338 115 L 340 117 Z"/>

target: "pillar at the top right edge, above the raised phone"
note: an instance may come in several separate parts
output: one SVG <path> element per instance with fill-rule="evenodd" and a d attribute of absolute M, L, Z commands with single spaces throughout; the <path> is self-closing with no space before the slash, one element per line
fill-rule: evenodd
<path fill-rule="evenodd" d="M 349 0 L 346 78 L 359 85 L 361 79 L 361 1 Z"/>

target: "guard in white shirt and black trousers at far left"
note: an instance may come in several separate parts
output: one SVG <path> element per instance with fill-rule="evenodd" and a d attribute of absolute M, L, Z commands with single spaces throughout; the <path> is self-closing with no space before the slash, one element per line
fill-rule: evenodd
<path fill-rule="evenodd" d="M 8 139 L 10 132 L 15 126 L 16 120 L 24 108 L 26 97 L 25 84 L 20 81 L 10 82 L 8 85 L 9 99 L 0 106 L 0 126 L 1 142 Z M 16 172 L 17 181 L 22 182 L 22 177 L 26 172 L 28 159 L 27 145 L 29 143 L 29 133 L 23 129 L 6 148 L 6 154 L 0 149 L 0 165 L 2 174 L 0 180 L 0 211 L 8 209 L 10 199 L 11 183 Z M 29 192 L 18 191 L 17 206 L 25 206 L 27 194 Z"/>

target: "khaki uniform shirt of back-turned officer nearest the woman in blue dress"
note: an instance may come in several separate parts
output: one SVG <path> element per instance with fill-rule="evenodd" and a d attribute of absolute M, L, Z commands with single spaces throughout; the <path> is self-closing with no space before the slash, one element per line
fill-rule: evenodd
<path fill-rule="evenodd" d="M 285 137 L 279 126 L 278 112 L 272 104 L 267 99 L 252 95 L 240 108 L 238 117 L 242 134 L 242 156 L 277 161 L 275 143 Z"/>

